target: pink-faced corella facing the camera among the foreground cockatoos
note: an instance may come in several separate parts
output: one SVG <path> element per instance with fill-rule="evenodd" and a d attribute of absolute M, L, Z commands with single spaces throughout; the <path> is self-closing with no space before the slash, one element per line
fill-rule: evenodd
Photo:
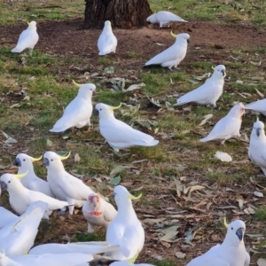
<path fill-rule="evenodd" d="M 102 199 L 97 193 L 91 193 L 82 207 L 82 213 L 88 221 L 88 232 L 93 232 L 93 225 L 108 227 L 117 215 L 112 204 Z"/>

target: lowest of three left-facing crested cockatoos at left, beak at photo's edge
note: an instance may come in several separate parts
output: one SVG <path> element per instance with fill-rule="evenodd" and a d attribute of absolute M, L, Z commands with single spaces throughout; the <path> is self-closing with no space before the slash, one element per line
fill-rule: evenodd
<path fill-rule="evenodd" d="M 24 214 L 30 204 L 37 200 L 42 200 L 48 204 L 43 219 L 49 220 L 53 210 L 68 206 L 66 201 L 53 199 L 42 192 L 28 190 L 19 180 L 19 178 L 23 178 L 26 175 L 27 173 L 21 175 L 4 174 L 0 177 L 1 185 L 4 184 L 9 193 L 10 205 L 17 214 Z"/>

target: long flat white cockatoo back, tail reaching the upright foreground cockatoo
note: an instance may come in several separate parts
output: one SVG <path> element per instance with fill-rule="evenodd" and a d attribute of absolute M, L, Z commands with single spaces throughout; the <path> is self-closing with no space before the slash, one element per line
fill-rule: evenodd
<path fill-rule="evenodd" d="M 49 243 L 33 247 L 28 254 L 100 254 L 116 250 L 119 246 L 111 246 L 108 242 L 76 242 L 67 244 Z"/>

